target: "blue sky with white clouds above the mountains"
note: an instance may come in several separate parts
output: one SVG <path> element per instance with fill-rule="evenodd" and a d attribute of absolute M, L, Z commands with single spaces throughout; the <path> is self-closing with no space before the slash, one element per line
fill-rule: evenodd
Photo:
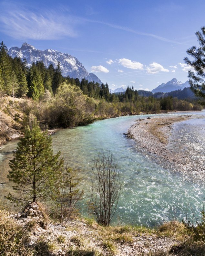
<path fill-rule="evenodd" d="M 151 91 L 188 80 L 204 10 L 204 0 L 0 0 L 0 40 L 75 56 L 111 89 Z"/>

